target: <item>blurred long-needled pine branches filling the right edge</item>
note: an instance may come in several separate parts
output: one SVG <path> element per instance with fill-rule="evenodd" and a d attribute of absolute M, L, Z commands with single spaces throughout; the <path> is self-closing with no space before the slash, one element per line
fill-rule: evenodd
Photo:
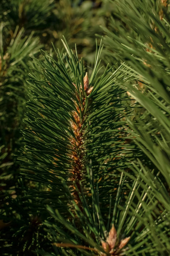
<path fill-rule="evenodd" d="M 110 29 L 105 30 L 105 53 L 122 63 L 119 82 L 133 103 L 135 100 L 136 106 L 141 108 L 134 112 L 133 121 L 127 118 L 129 132 L 144 153 L 143 161 L 133 162 L 131 178 L 139 174 L 148 189 L 154 191 L 159 210 L 156 215 L 152 212 L 154 217 L 148 218 L 147 223 L 152 226 L 157 255 L 169 255 L 169 1 L 139 0 L 134 3 L 125 0 L 114 1 L 114 4 L 116 18 L 111 20 Z M 114 33 L 116 21 L 121 23 L 121 29 Z"/>

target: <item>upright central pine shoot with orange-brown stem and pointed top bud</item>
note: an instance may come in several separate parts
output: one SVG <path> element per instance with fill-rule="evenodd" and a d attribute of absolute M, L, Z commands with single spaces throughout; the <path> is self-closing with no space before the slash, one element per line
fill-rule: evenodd
<path fill-rule="evenodd" d="M 113 210 L 114 191 L 120 179 L 117 169 L 125 167 L 128 161 L 128 149 L 123 149 L 124 121 L 121 121 L 125 96 L 115 83 L 119 69 L 112 74 L 113 70 L 106 67 L 102 75 L 98 75 L 101 46 L 88 78 L 83 60 L 78 60 L 66 41 L 64 45 L 67 53 L 63 57 L 58 52 L 54 61 L 44 54 L 44 62 L 36 63 L 38 72 L 29 79 L 23 171 L 26 178 L 38 182 L 39 187 L 30 189 L 25 198 L 31 200 L 30 208 L 36 204 L 42 225 L 50 225 L 45 222 L 47 218 L 50 222 L 50 213 L 56 219 L 52 210 L 56 206 L 62 219 L 57 219 L 58 222 L 64 224 L 64 219 L 69 220 L 65 227 L 60 227 L 59 241 L 69 225 L 69 231 L 77 233 L 72 243 L 81 245 L 83 239 L 87 245 L 95 245 L 102 251 L 91 236 L 96 236 L 100 244 L 110 229 L 112 218 L 110 216 L 108 222 L 108 213 Z M 125 185 L 121 186 L 126 190 Z M 115 194 L 112 204 L 111 194 Z M 70 226 L 70 222 L 74 222 L 75 227 Z M 69 238 L 64 239 L 69 241 Z M 51 236 L 50 239 L 56 241 Z M 59 251 L 62 255 L 63 250 Z"/>

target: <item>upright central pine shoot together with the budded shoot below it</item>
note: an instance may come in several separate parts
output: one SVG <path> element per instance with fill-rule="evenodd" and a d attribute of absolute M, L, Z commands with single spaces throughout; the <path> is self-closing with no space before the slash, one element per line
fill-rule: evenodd
<path fill-rule="evenodd" d="M 139 136 L 125 121 L 132 125 L 134 111 L 120 86 L 127 67 L 100 75 L 100 46 L 89 76 L 64 45 L 57 61 L 43 53 L 29 80 L 23 174 L 39 187 L 25 199 L 46 238 L 36 253 L 168 255 L 164 179 L 149 169 L 152 159 L 139 143 L 137 152 L 133 141 L 127 144 Z"/>

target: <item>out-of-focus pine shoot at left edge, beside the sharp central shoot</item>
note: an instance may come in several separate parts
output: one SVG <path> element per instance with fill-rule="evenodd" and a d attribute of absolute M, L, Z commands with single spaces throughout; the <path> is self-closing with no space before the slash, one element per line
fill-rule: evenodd
<path fill-rule="evenodd" d="M 1 178 L 1 224 L 9 223 L 16 215 L 19 165 L 16 154 L 22 148 L 20 128 L 25 102 L 25 62 L 38 50 L 38 38 L 23 36 L 24 30 L 17 26 L 8 34 L 7 24 L 0 23 L 0 178 Z M 14 203 L 14 206 L 13 206 Z"/>

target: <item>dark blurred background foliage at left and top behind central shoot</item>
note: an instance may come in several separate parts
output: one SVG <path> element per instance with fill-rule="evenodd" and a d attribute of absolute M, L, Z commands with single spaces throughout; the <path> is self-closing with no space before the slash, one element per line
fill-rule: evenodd
<path fill-rule="evenodd" d="M 27 186 L 36 186 L 38 183 L 33 184 L 19 178 L 20 164 L 17 161 L 19 149 L 21 152 L 23 146 L 20 129 L 25 127 L 22 119 L 27 99 L 27 76 L 29 66 L 32 66 L 30 56 L 36 54 L 39 48 L 51 51 L 51 41 L 56 44 L 62 34 L 67 34 L 73 45 L 75 37 L 83 36 L 84 41 L 82 46 L 79 43 L 78 52 L 82 54 L 82 50 L 87 50 L 91 53 L 95 40 L 90 37 L 94 37 L 94 31 L 101 31 L 98 24 L 105 23 L 103 18 L 105 11 L 101 9 L 101 12 L 97 7 L 98 5 L 90 1 L 83 4 L 72 3 L 70 0 L 2 0 L 0 2 L 0 253 L 2 255 L 32 255 L 32 249 L 36 247 L 34 240 L 34 245 L 29 250 L 24 249 L 25 240 L 30 240 L 29 236 L 35 237 L 34 229 L 30 226 L 32 221 L 36 221 L 29 216 L 27 203 L 23 206 L 21 192 L 26 190 Z M 105 9 L 109 9 L 107 5 Z M 99 12 L 100 18 L 97 18 Z M 90 19 L 85 19 L 89 14 Z M 72 22 L 68 23 L 68 20 Z M 92 21 L 94 26 L 91 25 Z M 88 31 L 87 35 L 85 31 Z M 60 47 L 59 43 L 58 46 Z M 37 54 L 36 56 L 38 57 Z M 88 59 L 92 59 L 90 54 Z M 21 232 L 18 232 L 19 230 Z M 27 234 L 23 235 L 23 233 Z M 22 235 L 23 239 L 21 239 Z"/>

